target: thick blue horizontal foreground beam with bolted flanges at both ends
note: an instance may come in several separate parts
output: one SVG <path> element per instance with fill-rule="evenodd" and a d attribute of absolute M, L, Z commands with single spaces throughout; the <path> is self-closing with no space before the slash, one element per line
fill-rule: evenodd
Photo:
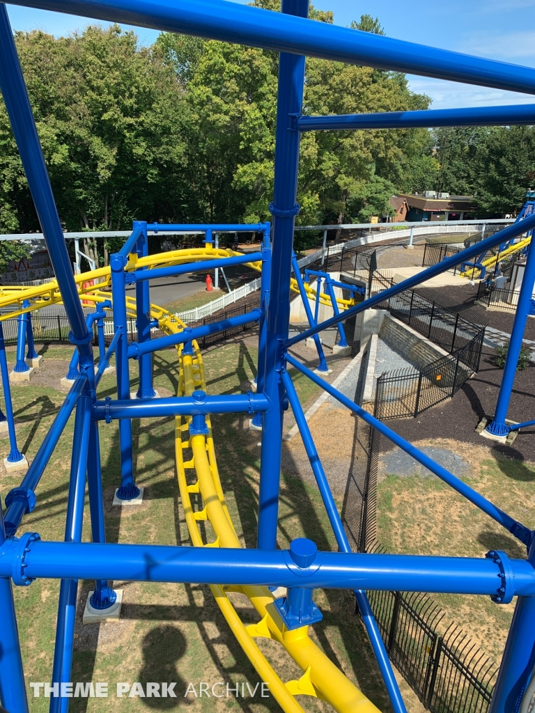
<path fill-rule="evenodd" d="M 23 583 L 25 576 L 491 597 L 501 585 L 501 565 L 491 558 L 318 552 L 310 567 L 300 568 L 288 550 L 30 541 L 32 535 L 36 536 L 26 533 L 20 540 L 6 540 L 0 546 L 0 577 L 12 577 L 15 584 Z M 510 596 L 535 595 L 535 569 L 528 561 L 504 555 L 502 564 L 506 565 L 508 600 Z"/>

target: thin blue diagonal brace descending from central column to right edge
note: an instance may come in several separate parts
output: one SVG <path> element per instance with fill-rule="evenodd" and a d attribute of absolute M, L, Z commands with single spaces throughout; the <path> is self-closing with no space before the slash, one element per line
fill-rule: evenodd
<path fill-rule="evenodd" d="M 435 476 L 441 478 L 444 483 L 448 483 L 448 485 L 452 486 L 454 490 L 456 490 L 458 493 L 461 493 L 464 498 L 467 498 L 467 500 L 477 506 L 484 513 L 489 515 L 493 520 L 496 520 L 497 523 L 506 528 L 506 530 L 509 530 L 509 532 L 512 533 L 516 538 L 518 538 L 522 543 L 524 543 L 524 545 L 529 545 L 531 543 L 531 530 L 529 530 L 529 528 L 526 528 L 525 525 L 522 525 L 521 523 L 517 522 L 516 520 L 514 520 L 514 518 L 511 518 L 511 515 L 507 515 L 507 513 L 504 513 L 504 511 L 500 510 L 500 508 L 495 506 L 494 503 L 491 503 L 482 495 L 472 490 L 472 488 L 467 486 L 466 483 L 463 483 L 461 480 L 459 480 L 459 478 L 456 478 L 452 473 L 449 473 L 446 468 L 442 468 L 442 466 L 439 466 L 439 464 L 435 463 L 432 458 L 426 456 L 425 453 L 422 453 L 422 451 L 419 451 L 418 448 L 415 448 L 412 443 L 409 443 L 409 441 L 405 441 L 404 438 L 398 436 L 397 433 L 392 431 L 392 429 L 389 429 L 388 426 L 385 426 L 381 421 L 375 419 L 374 416 L 368 414 L 367 411 L 361 409 L 360 406 L 357 406 L 357 404 L 355 404 L 355 401 L 351 401 L 351 399 L 348 399 L 347 396 L 344 396 L 344 394 L 342 394 L 340 391 L 334 389 L 330 384 L 327 384 L 327 381 L 324 381 L 320 378 L 320 376 L 317 376 L 317 374 L 314 374 L 312 371 L 310 371 L 310 369 L 307 369 L 306 366 L 303 366 L 300 361 L 297 361 L 297 359 L 295 359 L 293 356 L 290 356 L 290 354 L 286 354 L 286 361 L 288 364 L 292 364 L 292 366 L 295 366 L 295 368 L 301 371 L 302 374 L 308 376 L 309 379 L 312 379 L 315 384 L 321 386 L 322 389 L 325 389 L 325 391 L 327 391 L 327 394 L 334 396 L 337 401 L 340 401 L 340 404 L 347 406 L 350 411 L 354 411 L 357 416 L 360 416 L 362 421 L 366 421 L 367 424 L 373 426 L 374 429 L 377 429 L 379 433 L 383 434 L 384 436 L 387 436 L 387 438 L 389 438 L 390 441 L 392 441 L 392 443 L 394 443 L 396 446 L 399 446 L 402 451 L 405 451 L 405 453 L 409 453 L 409 456 L 412 456 L 415 461 L 418 461 L 418 463 L 422 463 L 422 466 L 424 466 L 424 468 L 427 468 L 429 471 L 434 473 Z M 392 590 L 393 589 L 394 588 L 392 588 Z"/>

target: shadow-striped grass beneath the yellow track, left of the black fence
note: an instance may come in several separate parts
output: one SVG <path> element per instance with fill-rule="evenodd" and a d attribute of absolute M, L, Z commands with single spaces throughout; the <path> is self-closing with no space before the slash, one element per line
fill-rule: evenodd
<path fill-rule="evenodd" d="M 47 358 L 70 357 L 71 350 L 50 348 Z M 11 355 L 13 356 L 13 355 Z M 233 394 L 255 372 L 258 354 L 244 344 L 227 344 L 205 354 L 208 391 Z M 44 361 L 46 369 L 46 360 Z M 154 382 L 163 393 L 174 392 L 178 381 L 173 351 L 154 356 Z M 131 365 L 132 389 L 136 388 L 136 364 Z M 302 379 L 295 379 L 303 398 L 313 396 Z M 113 376 L 102 379 L 98 397 L 115 395 Z M 14 409 L 19 447 L 31 459 L 48 431 L 64 394 L 51 387 L 13 386 Z M 246 416 L 213 418 L 218 466 L 225 496 L 240 540 L 255 547 L 256 512 L 260 448 L 258 435 L 245 429 Z M 136 481 L 146 487 L 143 506 L 132 511 L 111 508 L 113 490 L 119 482 L 118 426 L 102 423 L 99 428 L 103 465 L 103 490 L 106 503 L 106 536 L 110 542 L 161 543 L 189 545 L 183 512 L 180 508 L 174 465 L 173 421 L 142 419 L 133 421 L 133 447 Z M 19 534 L 38 531 L 44 539 L 63 539 L 68 493 L 68 474 L 73 441 L 73 419 L 68 423 L 58 447 L 37 488 L 38 506 L 24 518 Z M 6 438 L 0 440 L 1 456 L 9 450 Z M 17 486 L 20 476 L 4 476 L 0 493 L 4 498 Z M 338 503 L 339 506 L 341 503 Z M 313 538 L 320 549 L 336 549 L 325 510 L 316 488 L 297 478 L 282 475 L 280 491 L 280 530 L 278 543 L 285 547 L 295 537 Z M 83 539 L 90 540 L 88 503 Z M 76 627 L 73 655 L 73 681 L 108 681 L 107 699 L 73 699 L 73 713 L 113 711 L 136 713 L 147 707 L 178 707 L 212 712 L 227 708 L 252 713 L 279 710 L 274 699 L 193 699 L 183 697 L 188 682 L 249 682 L 254 688 L 258 676 L 238 647 L 220 615 L 210 590 L 198 585 L 160 583 L 121 583 L 124 590 L 123 616 L 120 623 Z M 93 583 L 79 583 L 83 602 Z M 38 580 L 29 588 L 15 588 L 16 608 L 28 681 L 48 681 L 54 656 L 54 630 L 59 583 Z M 360 685 L 379 707 L 389 711 L 372 650 L 362 625 L 352 614 L 349 593 L 319 591 L 315 595 L 324 613 L 314 627 L 312 637 L 342 670 Z M 80 607 L 78 611 L 81 612 Z M 246 622 L 255 620 L 250 607 L 243 609 Z M 97 645 L 98 640 L 98 645 Z M 299 675 L 297 667 L 271 642 L 261 641 L 273 665 L 284 680 Z M 176 681 L 178 699 L 116 699 L 116 682 Z M 405 687 L 406 688 L 406 687 Z M 31 699 L 31 712 L 48 710 L 48 699 Z M 310 712 L 327 711 L 327 704 L 310 697 L 300 697 Z"/>

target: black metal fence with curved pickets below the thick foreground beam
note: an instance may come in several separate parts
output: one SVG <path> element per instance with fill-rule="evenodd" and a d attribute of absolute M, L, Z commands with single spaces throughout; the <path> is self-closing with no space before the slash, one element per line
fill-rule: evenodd
<path fill-rule="evenodd" d="M 486 713 L 498 667 L 426 594 L 368 592 L 390 660 L 432 713 Z"/>

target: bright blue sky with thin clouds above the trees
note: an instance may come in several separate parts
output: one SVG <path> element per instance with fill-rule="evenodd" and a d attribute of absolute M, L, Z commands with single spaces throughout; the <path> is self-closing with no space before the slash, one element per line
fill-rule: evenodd
<path fill-rule="evenodd" d="M 379 18 L 390 37 L 535 67 L 535 0 L 315 0 L 315 6 L 332 10 L 335 24 L 349 25 L 368 13 Z M 14 29 L 39 28 L 56 36 L 90 22 L 14 5 L 8 11 Z M 152 30 L 136 32 L 144 43 L 157 36 Z M 410 83 L 437 109 L 533 102 L 527 95 L 424 77 L 411 77 Z"/>

